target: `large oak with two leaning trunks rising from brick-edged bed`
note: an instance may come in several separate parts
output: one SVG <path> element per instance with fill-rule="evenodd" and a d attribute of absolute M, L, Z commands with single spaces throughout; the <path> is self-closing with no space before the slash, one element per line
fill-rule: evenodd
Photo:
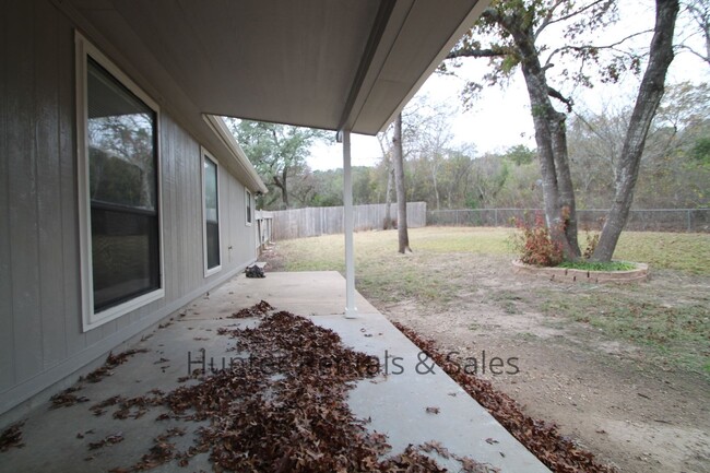
<path fill-rule="evenodd" d="M 673 33 L 678 11 L 677 0 L 656 0 L 653 39 L 648 67 L 641 81 L 637 106 L 626 133 L 618 161 L 619 178 L 615 182 L 615 205 L 606 225 L 595 259 L 612 257 L 620 229 L 628 217 L 638 177 L 638 162 L 646 133 L 663 94 L 665 73 L 673 59 Z M 590 32 L 601 31 L 618 20 L 615 0 L 494 0 L 480 21 L 449 54 L 460 58 L 488 58 L 485 75 L 488 84 L 504 83 L 520 69 L 530 98 L 535 128 L 539 165 L 547 226 L 567 259 L 580 258 L 577 238 L 577 205 L 567 150 L 567 114 L 573 100 L 553 86 L 551 71 L 560 82 L 593 85 L 594 72 L 602 82 L 615 82 L 626 71 L 640 73 L 643 55 L 624 47 L 631 38 L 647 32 L 634 32 L 606 44 L 590 40 Z M 561 45 L 545 44 L 541 36 L 553 31 Z M 484 44 L 483 39 L 487 39 Z M 556 63 L 561 66 L 556 66 Z M 596 67 L 591 68 L 594 64 Z M 445 63 L 443 69 L 448 66 Z M 470 82 L 469 98 L 482 88 Z"/>

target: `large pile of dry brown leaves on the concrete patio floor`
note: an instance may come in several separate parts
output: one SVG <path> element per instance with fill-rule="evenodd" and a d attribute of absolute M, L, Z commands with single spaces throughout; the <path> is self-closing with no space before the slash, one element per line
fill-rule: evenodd
<path fill-rule="evenodd" d="M 387 437 L 368 431 L 350 411 L 347 390 L 354 381 L 379 373 L 376 357 L 345 347 L 335 332 L 306 318 L 271 310 L 262 301 L 240 314 L 261 316 L 256 328 L 220 330 L 236 341 L 239 354 L 228 369 L 166 394 L 154 393 L 147 403 L 159 401 L 170 417 L 208 421 L 196 444 L 177 451 L 169 435 L 158 437 L 141 462 L 114 472 L 141 471 L 173 459 L 187 465 L 200 452 L 210 453 L 215 471 L 446 471 L 425 454 L 449 458 L 435 442 L 386 457 Z M 99 409 L 117 405 L 120 411 L 135 404 L 135 400 L 118 399 Z M 492 471 L 469 458 L 451 458 L 463 472 Z"/>

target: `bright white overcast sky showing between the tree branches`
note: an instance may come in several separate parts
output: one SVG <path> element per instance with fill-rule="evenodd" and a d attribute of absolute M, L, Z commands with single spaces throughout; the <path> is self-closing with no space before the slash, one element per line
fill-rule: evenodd
<path fill-rule="evenodd" d="M 638 25 L 652 27 L 652 2 L 644 0 L 627 7 L 620 22 L 618 34 L 641 29 Z M 612 36 L 610 33 L 607 36 Z M 648 45 L 650 36 L 646 36 Z M 700 48 L 702 46 L 700 45 Z M 462 78 L 480 76 L 481 68 L 486 60 L 465 60 L 464 68 L 459 71 Z M 676 56 L 668 71 L 667 83 L 683 81 L 701 82 L 710 80 L 710 68 L 688 52 Z M 452 122 L 452 131 L 457 144 L 473 143 L 478 153 L 504 151 L 516 144 L 535 147 L 534 130 L 530 116 L 530 105 L 524 81 L 520 71 L 505 88 L 488 87 L 484 91 L 475 106 L 468 111 L 461 107 L 460 93 L 464 80 L 453 76 L 433 74 L 418 92 L 434 103 L 445 103 L 458 109 Z M 601 111 L 604 103 L 618 100 L 629 104 L 638 87 L 638 79 L 629 78 L 623 84 L 596 85 L 593 90 L 578 90 L 575 93 L 576 110 L 591 109 Z M 354 134 L 352 138 L 352 158 L 354 166 L 374 166 L 381 158 L 379 143 L 374 137 Z M 342 147 L 334 143 L 313 146 L 308 159 L 311 169 L 332 169 L 342 167 Z"/>

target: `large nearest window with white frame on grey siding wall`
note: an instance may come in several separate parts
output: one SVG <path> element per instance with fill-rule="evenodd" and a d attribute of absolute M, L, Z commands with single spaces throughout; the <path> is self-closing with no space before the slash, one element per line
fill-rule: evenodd
<path fill-rule="evenodd" d="M 78 36 L 84 328 L 164 295 L 157 106 Z"/>

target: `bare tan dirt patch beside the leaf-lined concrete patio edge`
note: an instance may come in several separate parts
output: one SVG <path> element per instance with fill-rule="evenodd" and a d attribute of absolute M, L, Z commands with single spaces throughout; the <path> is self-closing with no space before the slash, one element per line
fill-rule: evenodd
<path fill-rule="evenodd" d="M 589 323 L 546 315 L 549 292 L 576 296 L 559 283 L 514 275 L 505 258 L 458 256 L 447 263 L 452 284 L 468 287 L 436 309 L 415 300 L 378 304 L 391 320 L 433 338 L 460 357 L 476 358 L 478 375 L 602 461 L 631 473 L 710 472 L 710 383 L 649 347 L 607 335 Z M 465 279 L 461 284 L 460 279 Z M 696 300 L 708 281 L 684 284 L 677 273 L 655 274 L 646 287 L 667 304 Z M 559 295 L 559 294 L 557 294 Z M 611 297 L 599 295 L 594 308 Z M 482 373 L 490 360 L 517 358 L 519 373 Z M 485 365 L 484 365 L 485 366 Z"/>

